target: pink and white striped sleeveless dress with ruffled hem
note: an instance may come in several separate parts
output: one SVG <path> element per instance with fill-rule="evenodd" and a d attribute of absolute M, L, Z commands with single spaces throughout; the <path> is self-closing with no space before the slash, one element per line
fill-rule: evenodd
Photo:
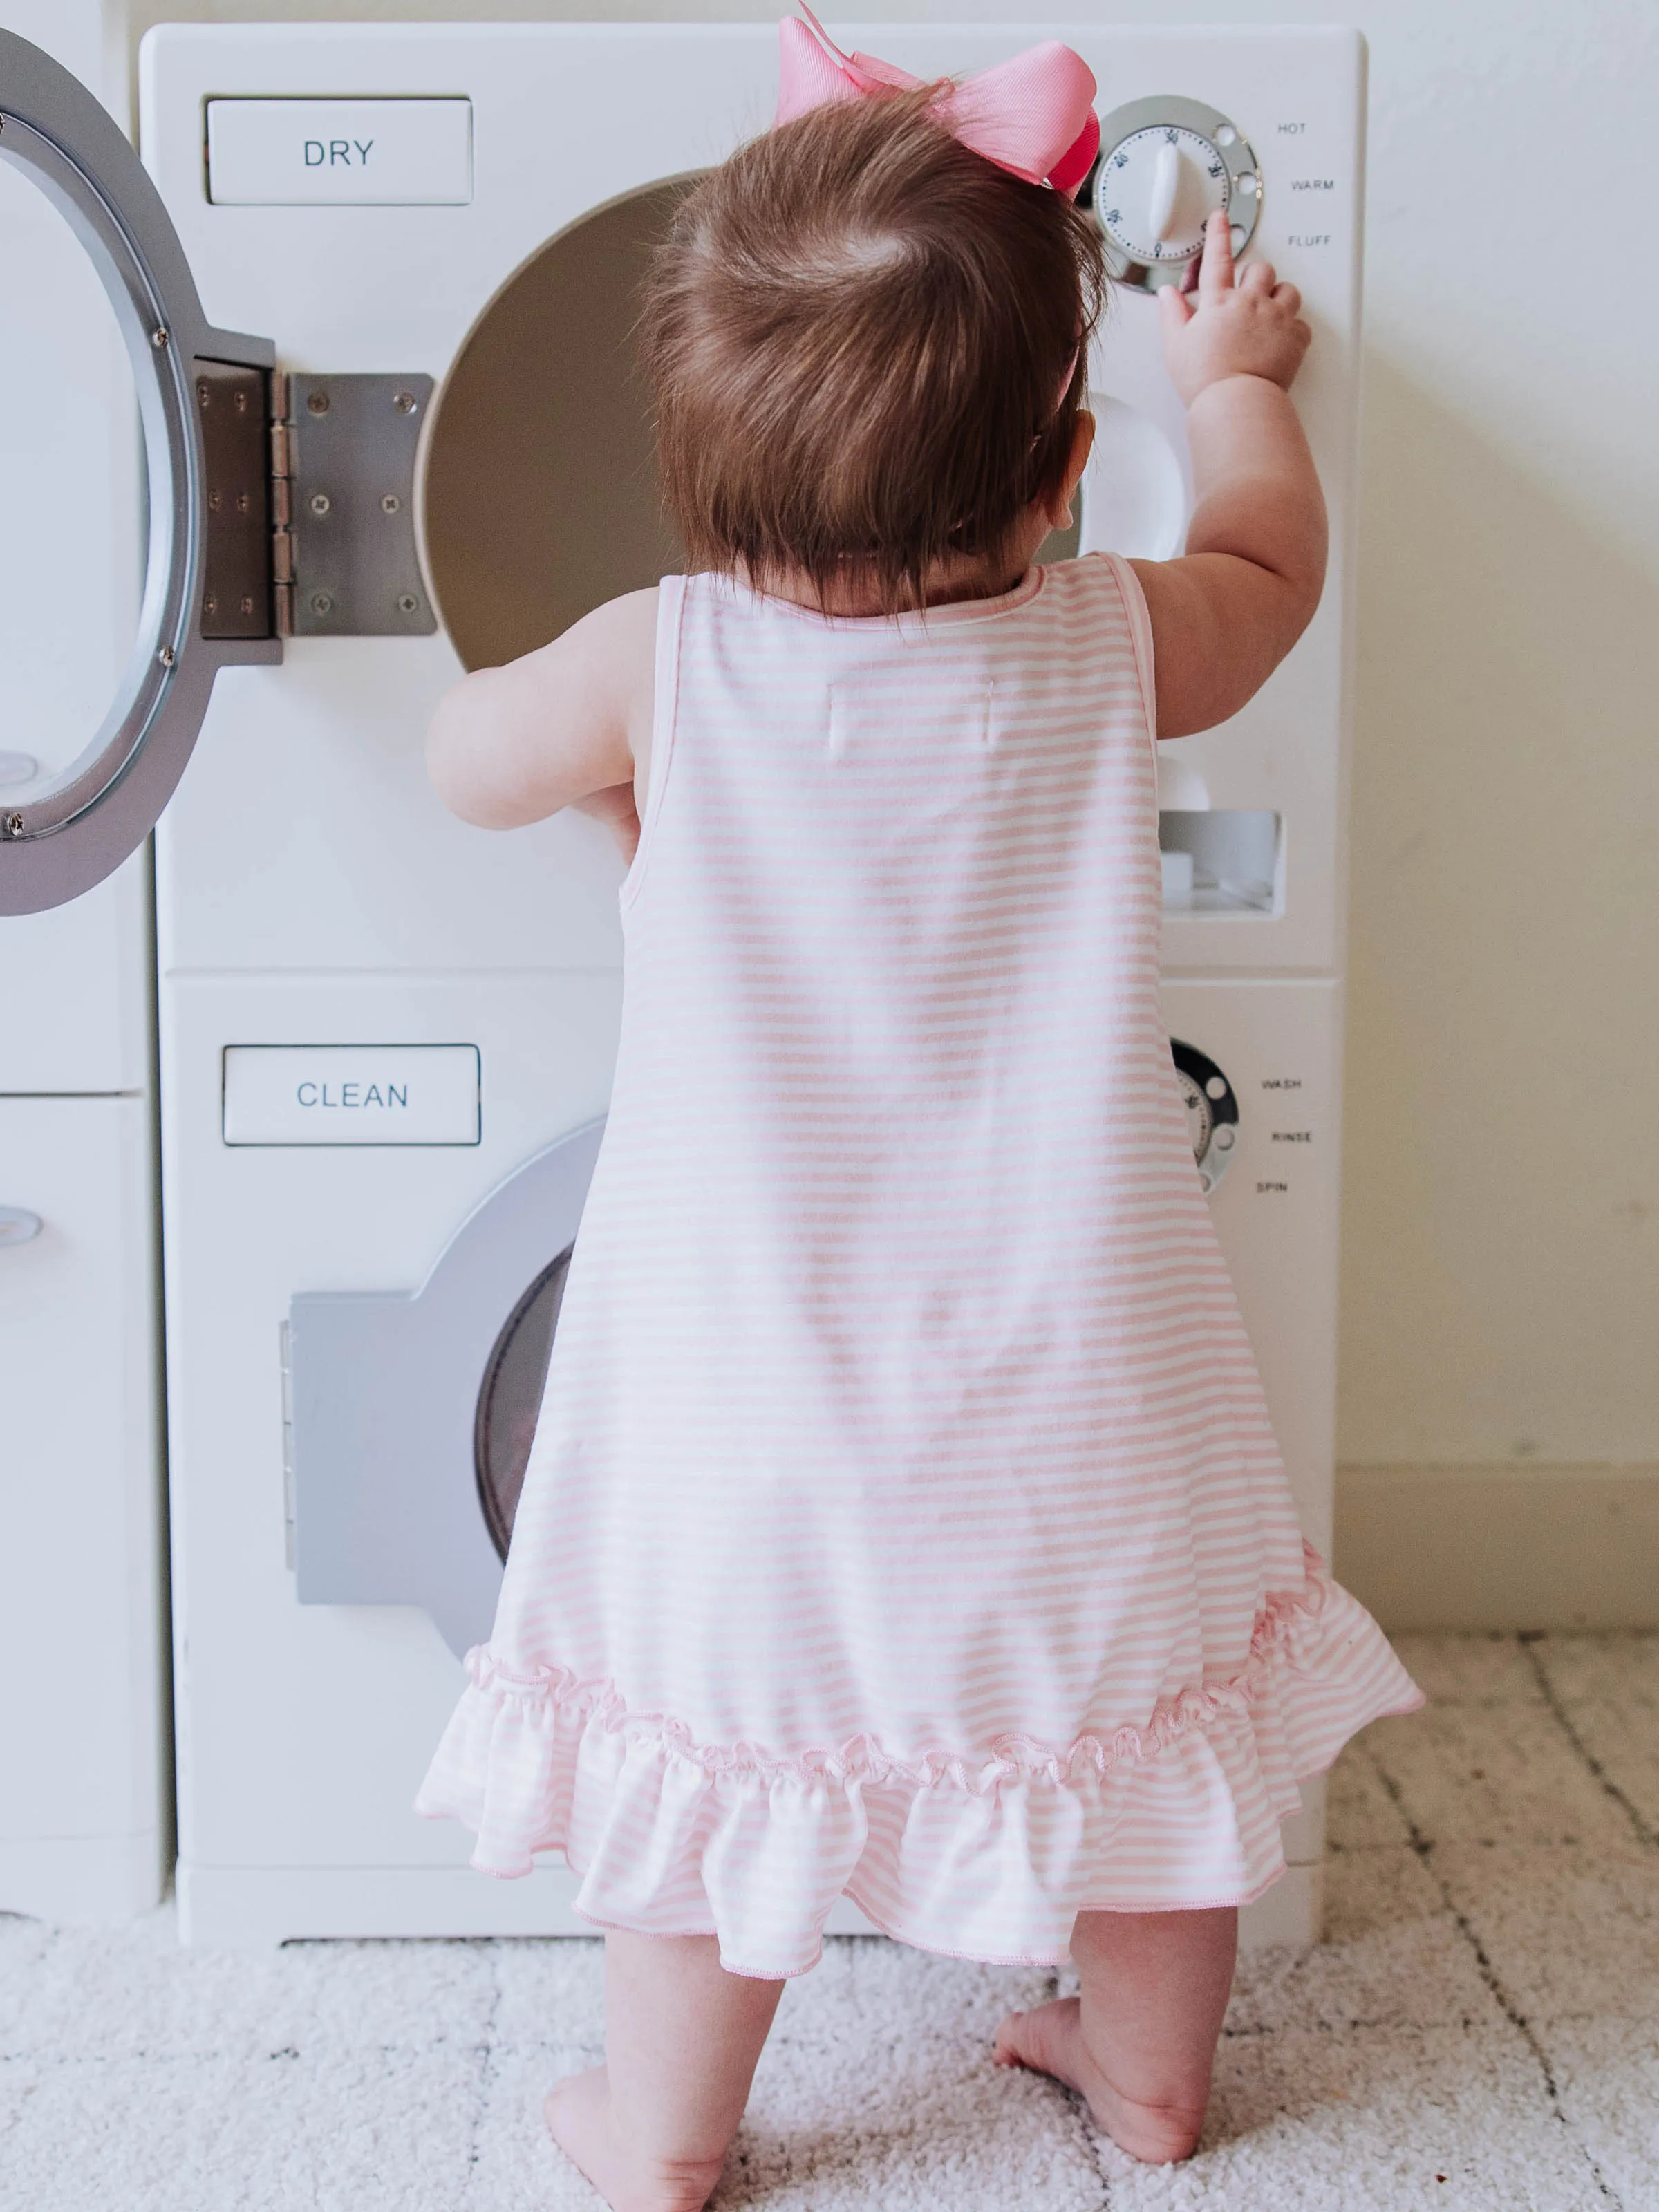
<path fill-rule="evenodd" d="M 661 586 L 615 1104 L 420 1794 L 604 1927 L 1060 1960 L 1418 1694 L 1303 1546 L 1159 1020 L 1133 571 Z"/>

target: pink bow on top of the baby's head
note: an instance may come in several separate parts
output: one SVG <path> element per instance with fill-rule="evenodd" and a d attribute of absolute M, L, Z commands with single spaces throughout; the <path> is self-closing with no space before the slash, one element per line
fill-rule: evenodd
<path fill-rule="evenodd" d="M 867 100 L 925 82 L 869 53 L 843 53 L 805 0 L 799 7 L 805 22 L 787 15 L 779 24 L 774 124 L 794 122 L 832 100 Z M 940 95 L 938 115 L 987 161 L 1026 184 L 1051 184 L 1066 199 L 1077 197 L 1099 153 L 1095 73 L 1053 38 L 951 86 Z"/>

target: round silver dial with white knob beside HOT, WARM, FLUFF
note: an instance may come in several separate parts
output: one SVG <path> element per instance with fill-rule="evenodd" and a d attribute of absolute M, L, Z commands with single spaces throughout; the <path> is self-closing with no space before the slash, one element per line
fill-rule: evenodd
<path fill-rule="evenodd" d="M 1179 283 L 1217 208 L 1243 252 L 1261 208 L 1261 173 L 1239 128 L 1199 100 L 1133 100 L 1099 126 L 1095 217 L 1119 283 Z"/>

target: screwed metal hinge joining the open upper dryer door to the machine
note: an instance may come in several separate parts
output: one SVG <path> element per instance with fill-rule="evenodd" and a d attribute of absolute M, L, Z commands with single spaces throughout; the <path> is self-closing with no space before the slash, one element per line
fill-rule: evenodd
<path fill-rule="evenodd" d="M 414 478 L 429 376 L 195 363 L 204 637 L 427 637 Z"/>

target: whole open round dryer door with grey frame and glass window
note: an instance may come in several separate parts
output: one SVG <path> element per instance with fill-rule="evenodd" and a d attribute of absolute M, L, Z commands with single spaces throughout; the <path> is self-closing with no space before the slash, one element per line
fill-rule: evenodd
<path fill-rule="evenodd" d="M 215 672 L 281 646 L 265 549 L 274 349 L 208 325 L 133 146 L 11 31 L 0 274 L 7 916 L 119 867 L 184 774 Z"/>

